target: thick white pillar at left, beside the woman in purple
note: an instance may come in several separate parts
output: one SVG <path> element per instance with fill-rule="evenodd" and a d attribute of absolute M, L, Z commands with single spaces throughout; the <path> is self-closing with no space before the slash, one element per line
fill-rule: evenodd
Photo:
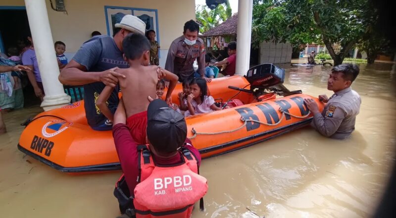
<path fill-rule="evenodd" d="M 45 0 L 25 0 L 26 13 L 39 64 L 40 75 L 46 96 L 41 103 L 44 110 L 59 108 L 70 103 L 63 85 L 59 82 L 59 68 L 53 48 L 51 28 Z"/>

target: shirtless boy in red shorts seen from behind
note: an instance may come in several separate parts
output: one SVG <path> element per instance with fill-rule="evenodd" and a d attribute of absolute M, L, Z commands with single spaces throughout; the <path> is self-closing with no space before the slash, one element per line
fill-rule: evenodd
<path fill-rule="evenodd" d="M 158 79 L 165 78 L 170 81 L 165 101 L 171 104 L 171 94 L 179 78 L 158 66 L 149 65 L 150 43 L 145 36 L 136 33 L 129 34 L 122 41 L 122 48 L 129 68 L 117 69 L 116 72 L 125 75 L 125 78 L 119 78 L 119 85 L 128 116 L 126 124 L 135 142 L 146 144 L 148 96 L 156 95 Z M 111 91 L 112 88 L 106 86 L 98 98 L 102 101 L 100 110 L 106 117 L 108 111 L 105 113 L 105 101 L 103 104 L 105 98 L 102 99 L 101 96 L 106 97 L 109 93 L 111 94 Z M 112 117 L 112 114 L 109 116 Z"/>

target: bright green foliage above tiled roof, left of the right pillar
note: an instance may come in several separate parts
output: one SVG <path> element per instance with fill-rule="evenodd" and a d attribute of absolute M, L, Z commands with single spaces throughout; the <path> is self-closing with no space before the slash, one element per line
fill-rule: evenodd
<path fill-rule="evenodd" d="M 213 10 L 210 10 L 206 5 L 197 5 L 195 16 L 197 21 L 202 24 L 199 32 L 204 33 L 232 16 L 230 2 L 227 0 L 225 4 L 219 4 Z"/>

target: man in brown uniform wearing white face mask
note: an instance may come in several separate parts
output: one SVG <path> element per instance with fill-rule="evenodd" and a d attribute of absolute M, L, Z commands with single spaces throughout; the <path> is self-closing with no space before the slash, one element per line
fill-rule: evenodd
<path fill-rule="evenodd" d="M 183 36 L 175 39 L 169 47 L 165 69 L 179 76 L 179 81 L 194 78 L 194 61 L 198 62 L 198 73 L 205 78 L 205 45 L 198 38 L 199 25 L 190 20 L 184 24 Z"/>

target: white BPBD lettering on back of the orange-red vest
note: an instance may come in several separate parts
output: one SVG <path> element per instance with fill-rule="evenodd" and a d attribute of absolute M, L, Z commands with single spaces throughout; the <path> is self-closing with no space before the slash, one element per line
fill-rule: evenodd
<path fill-rule="evenodd" d="M 161 178 L 154 178 L 154 195 L 164 195 L 166 194 L 165 190 L 168 186 L 175 188 L 175 192 L 181 191 L 191 191 L 193 190 L 191 185 L 192 179 L 190 175 L 183 175 L 183 176 L 174 176 L 174 177 L 165 177 L 164 179 Z"/>

